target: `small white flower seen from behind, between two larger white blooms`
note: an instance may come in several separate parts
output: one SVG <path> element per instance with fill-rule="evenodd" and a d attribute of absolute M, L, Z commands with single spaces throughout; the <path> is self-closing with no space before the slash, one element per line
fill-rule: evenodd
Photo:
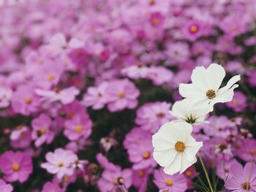
<path fill-rule="evenodd" d="M 200 124 L 208 123 L 205 118 L 210 111 L 211 108 L 208 106 L 194 107 L 191 101 L 183 99 L 182 101 L 176 101 L 175 104 L 173 104 L 170 115 L 177 118 L 175 121 L 186 121 L 191 124 Z"/>

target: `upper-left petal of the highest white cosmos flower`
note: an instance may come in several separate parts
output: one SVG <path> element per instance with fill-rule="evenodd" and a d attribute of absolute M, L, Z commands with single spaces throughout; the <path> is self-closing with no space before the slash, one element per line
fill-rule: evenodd
<path fill-rule="evenodd" d="M 208 77 L 207 77 L 206 69 L 203 66 L 197 66 L 193 70 L 191 75 L 191 80 L 193 85 L 196 85 L 197 88 L 206 90 L 209 87 L 207 79 Z"/>

